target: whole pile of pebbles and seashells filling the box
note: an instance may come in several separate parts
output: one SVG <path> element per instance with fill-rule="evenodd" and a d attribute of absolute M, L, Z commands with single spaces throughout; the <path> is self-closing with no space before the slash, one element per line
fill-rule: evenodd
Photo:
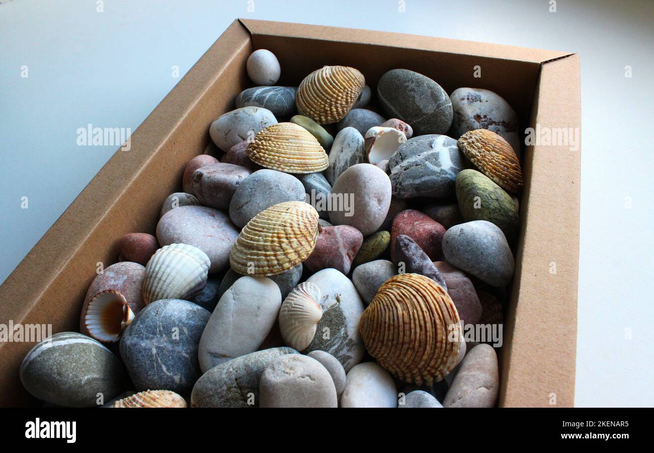
<path fill-rule="evenodd" d="M 25 388 L 66 407 L 495 405 L 496 351 L 448 334 L 502 323 L 515 111 L 407 69 L 376 90 L 345 66 L 274 86 L 257 50 L 247 71 L 156 236 L 120 240 L 80 333 L 27 353 Z"/>

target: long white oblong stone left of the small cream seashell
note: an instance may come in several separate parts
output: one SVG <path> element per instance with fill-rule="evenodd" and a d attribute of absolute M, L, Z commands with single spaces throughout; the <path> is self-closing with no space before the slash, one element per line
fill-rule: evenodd
<path fill-rule="evenodd" d="M 202 372 L 256 351 L 277 321 L 279 287 L 266 277 L 244 276 L 225 291 L 202 333 L 198 359 Z"/>

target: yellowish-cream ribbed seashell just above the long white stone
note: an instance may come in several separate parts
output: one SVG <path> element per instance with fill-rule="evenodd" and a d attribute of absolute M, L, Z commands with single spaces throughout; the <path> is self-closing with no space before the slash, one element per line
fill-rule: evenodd
<path fill-rule="evenodd" d="M 238 274 L 277 275 L 307 259 L 318 239 L 318 211 L 308 203 L 275 204 L 250 220 L 236 238 L 230 265 Z"/>

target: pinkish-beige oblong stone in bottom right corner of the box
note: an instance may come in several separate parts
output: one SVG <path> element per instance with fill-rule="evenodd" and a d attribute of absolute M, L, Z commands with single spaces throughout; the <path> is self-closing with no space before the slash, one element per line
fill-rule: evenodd
<path fill-rule="evenodd" d="M 492 346 L 478 344 L 461 362 L 443 407 L 493 407 L 499 387 L 497 354 Z"/>

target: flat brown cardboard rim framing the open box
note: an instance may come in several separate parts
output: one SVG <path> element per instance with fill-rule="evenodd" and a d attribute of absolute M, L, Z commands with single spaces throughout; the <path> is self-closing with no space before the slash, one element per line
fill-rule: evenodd
<path fill-rule="evenodd" d="M 134 132 L 132 139 L 139 144 L 138 149 L 133 147 L 134 155 L 118 158 L 122 150 L 114 154 L 1 285 L 0 323 L 9 319 L 14 323 L 43 322 L 49 316 L 56 319 L 58 307 L 48 306 L 44 296 L 62 300 L 65 295 L 61 291 L 80 284 L 80 278 L 73 281 L 70 275 L 61 278 L 60 274 L 70 267 L 97 225 L 107 220 L 105 216 L 118 200 L 125 202 L 122 194 L 150 160 L 162 154 L 173 132 L 179 132 L 182 121 L 220 74 L 232 71 L 233 58 L 246 46 L 258 48 L 258 40 L 276 36 L 533 63 L 540 68 L 540 75 L 532 103 L 532 127 L 537 122 L 550 127 L 580 124 L 579 58 L 575 54 L 380 31 L 236 20 Z M 203 137 L 205 144 L 207 135 Z M 556 395 L 555 407 L 572 406 L 574 401 L 580 151 L 575 154 L 564 148 L 528 147 L 525 154 L 526 163 L 529 161 L 525 171 L 538 171 L 528 179 L 521 208 L 526 228 L 517 252 L 513 297 L 505 322 L 508 344 L 501 357 L 500 406 L 547 406 L 552 394 Z M 557 225 L 552 225 L 553 219 Z M 557 274 L 549 274 L 551 262 L 557 263 Z M 90 281 L 82 283 L 88 285 Z M 61 325 L 70 324 L 70 320 L 60 319 L 53 329 L 56 332 Z M 22 391 L 17 387 L 18 366 L 31 346 L 0 344 L 5 365 L 0 370 L 0 405 L 26 401 L 25 395 L 12 393 Z M 543 373 L 534 375 L 534 370 Z"/>

